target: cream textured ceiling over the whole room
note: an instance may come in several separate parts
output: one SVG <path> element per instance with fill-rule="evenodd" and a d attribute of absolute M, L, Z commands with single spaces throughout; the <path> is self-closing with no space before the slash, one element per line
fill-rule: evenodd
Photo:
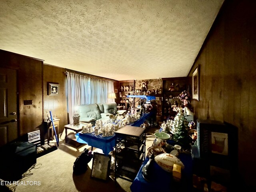
<path fill-rule="evenodd" d="M 0 49 L 115 80 L 187 76 L 224 0 L 1 0 Z"/>

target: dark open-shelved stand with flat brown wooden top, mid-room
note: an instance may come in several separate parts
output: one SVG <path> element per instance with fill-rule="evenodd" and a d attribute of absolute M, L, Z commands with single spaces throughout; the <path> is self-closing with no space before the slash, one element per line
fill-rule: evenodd
<path fill-rule="evenodd" d="M 115 180 L 132 182 L 145 160 L 146 128 L 126 125 L 115 134 Z"/>

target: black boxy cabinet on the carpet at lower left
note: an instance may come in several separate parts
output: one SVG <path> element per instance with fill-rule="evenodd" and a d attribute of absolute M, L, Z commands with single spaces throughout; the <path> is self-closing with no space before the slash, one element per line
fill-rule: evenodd
<path fill-rule="evenodd" d="M 30 142 L 13 142 L 0 149 L 0 178 L 16 181 L 32 165 L 36 164 L 36 144 Z"/>

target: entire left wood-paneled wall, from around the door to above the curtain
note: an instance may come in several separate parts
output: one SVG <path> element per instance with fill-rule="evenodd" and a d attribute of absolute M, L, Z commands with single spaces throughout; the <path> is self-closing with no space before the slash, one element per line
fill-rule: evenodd
<path fill-rule="evenodd" d="M 18 134 L 24 134 L 43 129 L 43 120 L 46 118 L 46 111 L 60 119 L 58 133 L 64 130 L 68 124 L 67 97 L 66 97 L 66 68 L 60 68 L 43 64 L 44 60 L 15 54 L 0 50 L 0 67 L 17 70 L 18 84 Z M 72 71 L 72 70 L 69 70 Z M 74 71 L 72 71 L 74 72 Z M 91 74 L 78 74 L 100 78 Z M 110 80 L 107 78 L 101 78 Z M 114 80 L 113 80 L 114 81 Z M 47 94 L 48 83 L 60 84 L 59 94 L 49 96 Z M 114 83 L 118 88 L 118 81 Z M 24 105 L 24 100 L 32 100 L 32 105 Z"/>

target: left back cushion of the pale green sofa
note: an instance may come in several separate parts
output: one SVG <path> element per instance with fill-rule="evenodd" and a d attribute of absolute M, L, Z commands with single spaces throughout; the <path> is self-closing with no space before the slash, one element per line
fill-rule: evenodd
<path fill-rule="evenodd" d="M 97 120 L 101 118 L 100 110 L 97 104 L 80 105 L 77 108 L 80 114 L 80 119 L 89 117 Z"/>

